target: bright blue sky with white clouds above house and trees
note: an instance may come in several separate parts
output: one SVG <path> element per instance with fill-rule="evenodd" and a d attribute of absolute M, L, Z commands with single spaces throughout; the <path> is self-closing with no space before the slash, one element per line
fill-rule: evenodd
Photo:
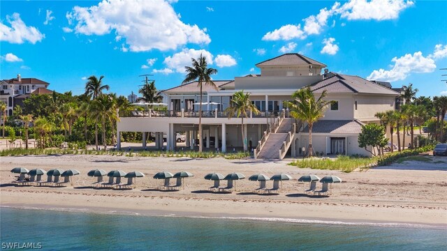
<path fill-rule="evenodd" d="M 83 92 L 104 75 L 112 92 L 177 86 L 200 53 L 233 79 L 256 63 L 299 52 L 328 69 L 413 83 L 447 94 L 447 1 L 0 1 L 0 79 L 36 77 Z"/>

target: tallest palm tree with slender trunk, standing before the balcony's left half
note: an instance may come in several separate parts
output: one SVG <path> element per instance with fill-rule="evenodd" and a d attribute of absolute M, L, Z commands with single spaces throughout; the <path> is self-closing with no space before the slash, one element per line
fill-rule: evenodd
<path fill-rule="evenodd" d="M 198 114 L 198 151 L 202 152 L 203 142 L 202 142 L 202 95 L 203 95 L 203 84 L 209 84 L 214 89 L 217 89 L 216 84 L 212 82 L 211 75 L 216 74 L 217 70 L 214 68 L 207 68 L 208 63 L 205 56 L 200 54 L 198 59 L 191 59 L 192 67 L 185 66 L 186 69 L 186 77 L 183 80 L 182 84 L 191 82 L 197 79 L 198 86 L 200 87 L 200 105 L 199 105 L 199 114 Z M 210 100 L 208 100 L 210 101 Z"/>

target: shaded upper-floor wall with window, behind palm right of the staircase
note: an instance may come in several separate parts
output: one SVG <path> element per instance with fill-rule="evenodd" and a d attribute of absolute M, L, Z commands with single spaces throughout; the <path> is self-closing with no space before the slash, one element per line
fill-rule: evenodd
<path fill-rule="evenodd" d="M 316 98 L 319 94 L 316 94 Z M 330 105 L 326 109 L 324 117 L 321 120 L 351 120 L 354 118 L 353 114 L 353 95 L 336 95 L 328 94 L 325 100 L 338 101 L 338 110 L 331 110 Z"/>

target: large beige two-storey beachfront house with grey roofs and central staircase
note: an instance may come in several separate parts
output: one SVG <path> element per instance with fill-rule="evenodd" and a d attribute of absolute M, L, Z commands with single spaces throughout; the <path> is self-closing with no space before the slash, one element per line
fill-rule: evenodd
<path fill-rule="evenodd" d="M 203 103 L 199 103 L 197 82 L 175 86 L 162 91 L 168 111 L 120 114 L 118 134 L 132 131 L 156 132 L 156 146 L 162 146 L 167 135 L 167 149 L 176 147 L 176 132 L 186 132 L 186 146 L 193 149 L 197 141 L 198 106 L 203 108 L 203 144 L 205 149 L 233 151 L 242 147 L 241 119 L 228 119 L 225 112 L 235 91 L 250 93 L 261 114 L 244 119 L 244 131 L 249 148 L 257 158 L 284 158 L 302 155 L 307 149 L 309 132 L 305 123 L 288 116 L 286 100 L 298 89 L 310 86 L 316 96 L 328 91 L 327 100 L 334 102 L 323 119 L 314 124 L 314 150 L 323 155 L 369 155 L 358 146 L 358 134 L 364 123 L 378 123 L 376 112 L 395 109 L 400 93 L 361 77 L 325 73 L 325 64 L 301 54 L 283 54 L 256 64 L 261 75 L 235 77 L 234 80 L 214 81 L 218 86 L 203 87 Z M 119 138 L 119 137 L 118 137 Z M 144 137 L 145 138 L 145 137 Z M 143 142 L 143 145 L 146 143 Z M 118 143 L 118 147 L 120 144 Z"/>

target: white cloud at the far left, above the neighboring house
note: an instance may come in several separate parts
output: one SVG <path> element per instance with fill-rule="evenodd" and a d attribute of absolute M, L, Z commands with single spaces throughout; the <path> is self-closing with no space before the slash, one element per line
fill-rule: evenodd
<path fill-rule="evenodd" d="M 13 13 L 12 16 L 6 15 L 6 22 L 11 26 L 6 26 L 3 21 L 0 22 L 0 41 L 22 44 L 25 41 L 35 44 L 45 38 L 34 26 L 27 26 L 20 18 L 19 13 Z"/>

